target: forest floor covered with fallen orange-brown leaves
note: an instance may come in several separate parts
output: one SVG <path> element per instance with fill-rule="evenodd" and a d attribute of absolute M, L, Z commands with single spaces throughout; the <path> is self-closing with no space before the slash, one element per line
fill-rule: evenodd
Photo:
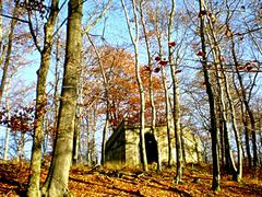
<path fill-rule="evenodd" d="M 251 171 L 245 169 L 241 183 L 222 176 L 222 190 L 214 193 L 211 165 L 187 165 L 182 183 L 172 183 L 174 169 L 162 173 L 151 170 L 120 166 L 73 166 L 70 171 L 69 190 L 75 196 L 262 196 L 262 170 L 254 178 Z M 43 169 L 41 179 L 47 169 Z M 0 161 L 0 196 L 25 196 L 29 170 L 26 163 L 7 163 Z"/>

